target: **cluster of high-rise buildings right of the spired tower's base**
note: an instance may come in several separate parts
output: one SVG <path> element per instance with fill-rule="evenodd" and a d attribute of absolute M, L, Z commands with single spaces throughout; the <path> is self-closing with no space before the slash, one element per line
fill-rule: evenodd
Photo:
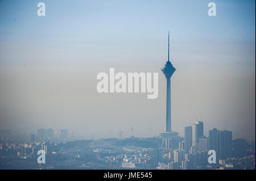
<path fill-rule="evenodd" d="M 208 151 L 216 151 L 217 166 L 233 168 L 230 158 L 246 157 L 247 141 L 243 138 L 232 139 L 231 131 L 221 131 L 216 128 L 204 136 L 204 124 L 196 121 L 192 126 L 185 127 L 184 138 L 163 138 L 168 169 L 209 169 Z M 254 153 L 255 155 L 255 153 Z"/>

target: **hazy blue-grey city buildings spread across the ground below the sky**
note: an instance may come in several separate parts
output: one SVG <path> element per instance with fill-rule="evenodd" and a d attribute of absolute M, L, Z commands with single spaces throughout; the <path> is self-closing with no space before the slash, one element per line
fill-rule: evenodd
<path fill-rule="evenodd" d="M 196 126 L 196 127 L 195 127 Z M 192 129 L 193 127 L 193 129 Z M 154 138 L 104 138 L 102 140 L 72 140 L 65 136 L 51 139 L 51 128 L 38 129 L 38 137 L 22 141 L 20 136 L 9 137 L 0 131 L 1 169 L 160 169 L 160 170 L 237 170 L 255 169 L 255 141 L 233 139 L 232 132 L 209 130 L 202 134 L 203 122 L 196 121 L 185 127 L 187 137 L 181 140 L 168 138 L 165 145 L 160 137 Z M 191 128 L 191 129 L 186 129 Z M 47 133 L 48 132 L 48 133 Z M 199 141 L 195 142 L 195 135 Z M 73 135 L 72 135 L 73 136 Z M 11 138 L 11 139 L 10 139 Z M 17 140 L 18 138 L 18 140 Z M 176 141 L 175 141 L 176 140 Z M 193 142 L 193 143 L 192 143 Z M 187 143 L 191 148 L 187 150 Z M 120 149 L 121 148 L 121 149 Z M 47 164 L 36 165 L 38 151 L 46 154 Z M 112 150 L 112 152 L 109 152 Z M 208 160 L 208 150 L 216 151 L 216 163 Z M 99 154 L 102 153 L 102 154 Z M 108 155 L 109 153 L 109 155 Z M 115 153 L 115 154 L 113 154 Z M 101 155 L 101 156 L 100 156 Z M 65 157 L 65 159 L 63 159 Z M 15 164 L 16 162 L 19 164 Z M 64 162 L 63 162 L 64 161 Z M 72 165 L 68 162 L 72 161 Z M 85 164 L 86 162 L 86 164 Z"/>

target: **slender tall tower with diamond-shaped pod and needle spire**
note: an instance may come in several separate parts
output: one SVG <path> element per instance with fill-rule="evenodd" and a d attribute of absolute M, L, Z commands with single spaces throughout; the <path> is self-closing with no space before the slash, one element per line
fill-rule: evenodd
<path fill-rule="evenodd" d="M 168 61 L 161 69 L 163 74 L 166 76 L 167 91 L 166 91 L 166 132 L 171 132 L 171 77 L 176 70 L 170 62 L 170 32 L 168 34 Z"/>

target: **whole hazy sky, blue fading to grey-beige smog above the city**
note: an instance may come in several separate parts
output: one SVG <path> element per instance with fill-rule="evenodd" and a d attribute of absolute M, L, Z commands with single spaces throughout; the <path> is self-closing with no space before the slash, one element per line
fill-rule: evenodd
<path fill-rule="evenodd" d="M 218 128 L 255 140 L 255 1 L 213 1 L 216 16 L 209 2 L 0 1 L 0 128 L 164 131 L 170 31 L 172 131 L 203 120 L 206 136 Z M 109 68 L 158 72 L 158 98 L 99 94 L 97 74 Z"/>

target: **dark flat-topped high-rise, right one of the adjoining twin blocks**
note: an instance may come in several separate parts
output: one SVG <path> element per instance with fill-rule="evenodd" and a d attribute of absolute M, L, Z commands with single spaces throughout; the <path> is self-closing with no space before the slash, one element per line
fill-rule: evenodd
<path fill-rule="evenodd" d="M 220 131 L 220 158 L 226 159 L 232 157 L 232 132 Z"/>

